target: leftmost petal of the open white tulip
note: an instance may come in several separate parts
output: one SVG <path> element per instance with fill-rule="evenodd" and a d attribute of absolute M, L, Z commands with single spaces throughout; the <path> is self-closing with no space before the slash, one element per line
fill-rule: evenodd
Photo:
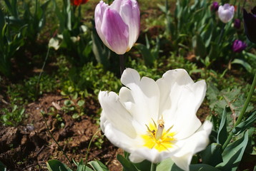
<path fill-rule="evenodd" d="M 104 122 L 109 121 L 115 128 L 125 133 L 131 138 L 137 136 L 134 129 L 133 118 L 127 110 L 119 102 L 119 97 L 116 93 L 106 91 L 99 92 L 99 103 L 102 106 L 101 126 L 102 131 L 105 133 L 106 128 Z"/>

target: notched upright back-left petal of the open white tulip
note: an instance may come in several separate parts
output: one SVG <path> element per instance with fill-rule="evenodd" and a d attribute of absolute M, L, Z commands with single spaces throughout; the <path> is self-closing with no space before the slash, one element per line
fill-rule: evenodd
<path fill-rule="evenodd" d="M 120 102 L 131 113 L 134 120 L 141 125 L 149 124 L 159 119 L 159 88 L 151 78 L 143 77 L 139 73 L 127 68 L 122 74 L 121 82 L 127 88 L 119 92 Z"/>

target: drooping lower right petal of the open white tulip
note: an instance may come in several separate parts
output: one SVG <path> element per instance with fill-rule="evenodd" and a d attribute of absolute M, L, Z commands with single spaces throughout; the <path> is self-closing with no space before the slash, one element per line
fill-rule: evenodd
<path fill-rule="evenodd" d="M 211 131 L 212 123 L 206 120 L 195 134 L 185 140 L 177 142 L 176 145 L 180 147 L 180 150 L 171 157 L 175 164 L 183 170 L 189 170 L 192 156 L 207 147 Z"/>

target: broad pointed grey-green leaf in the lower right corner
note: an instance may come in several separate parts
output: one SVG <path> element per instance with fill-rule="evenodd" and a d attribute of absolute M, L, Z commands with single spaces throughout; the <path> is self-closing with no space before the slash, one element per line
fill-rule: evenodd
<path fill-rule="evenodd" d="M 242 160 L 248 142 L 248 130 L 239 140 L 227 145 L 222 153 L 223 162 L 216 167 L 223 171 L 235 171 Z"/>

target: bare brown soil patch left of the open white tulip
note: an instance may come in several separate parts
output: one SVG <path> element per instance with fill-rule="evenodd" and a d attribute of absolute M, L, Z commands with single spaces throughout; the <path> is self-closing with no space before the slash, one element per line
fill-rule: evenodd
<path fill-rule="evenodd" d="M 7 166 L 7 170 L 47 170 L 46 161 L 51 159 L 60 160 L 70 167 L 67 158 L 47 132 L 40 112 L 44 110 L 44 113 L 49 113 L 52 102 L 61 106 L 64 100 L 60 95 L 44 95 L 26 107 L 27 119 L 22 125 L 16 128 L 0 125 L 0 161 Z M 81 159 L 85 161 L 89 142 L 99 130 L 97 120 L 94 119 L 97 118 L 99 104 L 87 99 L 85 108 L 87 115 L 79 120 L 74 120 L 72 115 L 61 110 L 55 110 L 61 116 L 59 119 L 56 115 L 45 115 L 51 134 L 69 160 L 77 162 Z M 64 123 L 63 128 L 60 127 L 61 123 Z M 102 140 L 101 145 L 97 144 L 99 140 Z M 122 153 L 122 150 L 114 147 L 99 132 L 97 138 L 92 140 L 87 161 L 100 160 L 109 170 L 119 171 L 122 166 L 116 159 L 117 153 Z"/>

